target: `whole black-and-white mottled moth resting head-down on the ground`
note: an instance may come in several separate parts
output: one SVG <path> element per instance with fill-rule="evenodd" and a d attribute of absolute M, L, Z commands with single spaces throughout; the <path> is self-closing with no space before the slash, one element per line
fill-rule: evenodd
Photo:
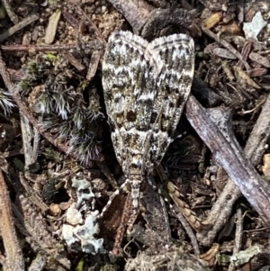
<path fill-rule="evenodd" d="M 194 43 L 186 34 L 151 42 L 131 32 L 113 32 L 109 38 L 103 59 L 104 100 L 113 148 L 126 177 L 120 189 L 130 185 L 134 208 L 142 184 L 173 139 L 193 72 Z"/>

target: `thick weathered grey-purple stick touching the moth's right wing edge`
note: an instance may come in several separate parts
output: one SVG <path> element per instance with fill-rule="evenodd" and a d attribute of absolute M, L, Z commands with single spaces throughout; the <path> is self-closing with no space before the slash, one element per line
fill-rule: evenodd
<path fill-rule="evenodd" d="M 220 166 L 238 185 L 241 193 L 266 224 L 270 225 L 270 187 L 258 175 L 238 146 L 228 122 L 223 121 L 226 119 L 225 112 L 216 109 L 205 110 L 191 95 L 186 103 L 185 113 Z"/>

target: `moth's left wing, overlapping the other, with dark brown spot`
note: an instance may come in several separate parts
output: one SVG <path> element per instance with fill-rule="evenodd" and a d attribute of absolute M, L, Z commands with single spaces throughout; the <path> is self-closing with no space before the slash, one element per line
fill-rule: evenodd
<path fill-rule="evenodd" d="M 103 60 L 104 100 L 112 143 L 126 176 L 141 177 L 151 136 L 157 77 L 164 68 L 160 57 L 153 60 L 147 47 L 148 41 L 131 32 L 113 32 Z"/>

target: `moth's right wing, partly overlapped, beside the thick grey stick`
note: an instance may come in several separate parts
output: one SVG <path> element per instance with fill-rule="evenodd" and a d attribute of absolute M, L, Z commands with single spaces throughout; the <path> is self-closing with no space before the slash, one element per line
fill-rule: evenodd
<path fill-rule="evenodd" d="M 152 128 L 150 158 L 159 165 L 175 133 L 191 91 L 194 73 L 194 42 L 185 34 L 158 38 L 148 44 L 153 58 L 159 56 L 164 70 L 157 78 L 157 97 L 153 113 L 157 122 Z"/>

